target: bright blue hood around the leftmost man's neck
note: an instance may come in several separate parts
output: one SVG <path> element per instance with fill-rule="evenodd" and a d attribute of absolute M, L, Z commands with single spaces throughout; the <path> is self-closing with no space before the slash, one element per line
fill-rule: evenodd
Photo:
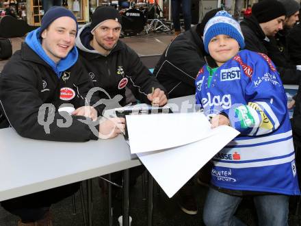
<path fill-rule="evenodd" d="M 25 43 L 44 60 L 55 72 L 57 77 L 61 77 L 62 72 L 66 71 L 68 68 L 73 66 L 75 62 L 77 62 L 78 51 L 76 47 L 73 47 L 71 51 L 68 53 L 66 58 L 62 58 L 57 64 L 49 58 L 49 55 L 42 48 L 42 43 L 40 38 L 38 38 L 38 34 L 40 32 L 40 28 L 35 29 L 34 31 L 29 32 L 25 38 Z"/>

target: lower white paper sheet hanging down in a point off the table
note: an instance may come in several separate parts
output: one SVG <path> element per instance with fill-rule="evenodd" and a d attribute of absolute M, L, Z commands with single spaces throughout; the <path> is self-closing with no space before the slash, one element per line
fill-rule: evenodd
<path fill-rule="evenodd" d="M 220 126 L 211 129 L 206 138 L 188 145 L 137 155 L 168 197 L 172 197 L 238 134 L 232 127 Z"/>

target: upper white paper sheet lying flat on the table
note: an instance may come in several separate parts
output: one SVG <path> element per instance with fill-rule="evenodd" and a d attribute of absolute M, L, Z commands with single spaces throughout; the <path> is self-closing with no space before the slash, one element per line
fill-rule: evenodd
<path fill-rule="evenodd" d="M 131 153 L 187 145 L 209 136 L 211 124 L 200 112 L 127 115 Z"/>

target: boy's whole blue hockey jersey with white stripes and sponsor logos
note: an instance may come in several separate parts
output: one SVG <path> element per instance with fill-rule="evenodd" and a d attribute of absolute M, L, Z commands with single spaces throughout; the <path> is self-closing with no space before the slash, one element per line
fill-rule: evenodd
<path fill-rule="evenodd" d="M 213 158 L 211 182 L 231 190 L 300 194 L 287 97 L 270 58 L 240 51 L 196 79 L 196 103 L 207 116 L 228 115 L 241 132 Z M 205 150 L 204 150 L 205 151 Z"/>

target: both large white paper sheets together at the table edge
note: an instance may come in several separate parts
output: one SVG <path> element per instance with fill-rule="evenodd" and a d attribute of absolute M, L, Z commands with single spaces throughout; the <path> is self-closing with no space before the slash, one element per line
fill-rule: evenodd
<path fill-rule="evenodd" d="M 239 131 L 211 129 L 200 112 L 129 115 L 131 153 L 136 153 L 159 186 L 172 197 Z"/>

